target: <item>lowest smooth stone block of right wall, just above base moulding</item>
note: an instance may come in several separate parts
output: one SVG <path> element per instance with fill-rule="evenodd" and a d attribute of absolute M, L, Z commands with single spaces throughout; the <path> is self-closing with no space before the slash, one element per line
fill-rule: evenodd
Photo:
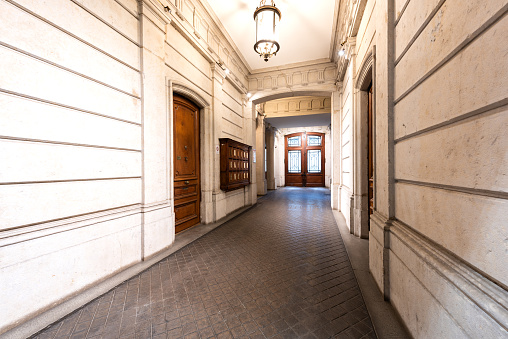
<path fill-rule="evenodd" d="M 395 203 L 399 220 L 508 285 L 508 200 L 398 183 Z"/>

